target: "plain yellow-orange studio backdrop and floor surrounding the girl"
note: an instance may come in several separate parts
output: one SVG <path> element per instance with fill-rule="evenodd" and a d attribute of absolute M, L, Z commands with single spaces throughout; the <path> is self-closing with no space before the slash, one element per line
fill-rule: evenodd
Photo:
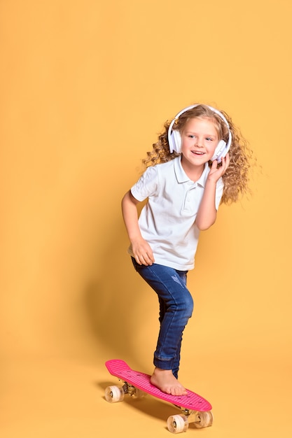
<path fill-rule="evenodd" d="M 104 361 L 152 372 L 120 199 L 197 101 L 262 168 L 201 236 L 180 380 L 205 437 L 291 437 L 291 2 L 2 0 L 0 34 L 1 438 L 169 436 L 169 404 L 105 402 Z"/>

